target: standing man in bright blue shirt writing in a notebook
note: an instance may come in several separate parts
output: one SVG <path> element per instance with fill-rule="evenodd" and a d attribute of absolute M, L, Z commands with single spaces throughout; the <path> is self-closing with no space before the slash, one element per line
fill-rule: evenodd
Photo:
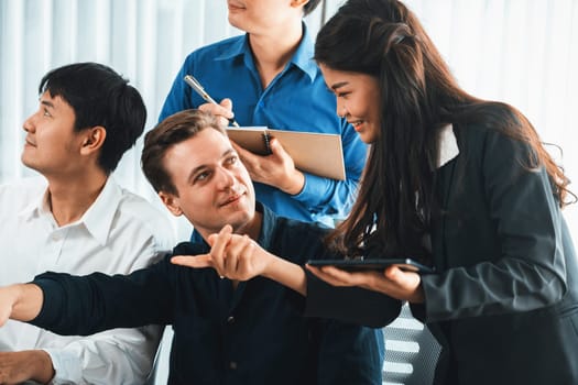
<path fill-rule="evenodd" d="M 353 128 L 336 116 L 336 101 L 312 59 L 304 14 L 320 0 L 229 1 L 229 22 L 244 35 L 201 47 L 187 56 L 166 97 L 160 121 L 189 108 L 232 118 L 243 127 L 339 134 L 346 179 L 303 173 L 282 146 L 259 156 L 236 147 L 254 182 L 257 199 L 276 213 L 334 227 L 349 212 L 367 148 Z M 206 103 L 184 80 L 194 76 L 222 106 Z M 227 122 L 223 120 L 223 122 Z M 199 238 L 197 237 L 197 240 Z"/>

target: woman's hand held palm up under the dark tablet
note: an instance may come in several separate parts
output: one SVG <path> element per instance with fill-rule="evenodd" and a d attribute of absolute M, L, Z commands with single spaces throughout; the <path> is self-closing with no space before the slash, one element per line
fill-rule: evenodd
<path fill-rule="evenodd" d="M 314 267 L 309 265 L 307 265 L 307 270 L 318 278 L 334 286 L 359 286 L 413 304 L 424 301 L 419 274 L 405 272 L 394 265 L 382 272 L 367 271 L 350 273 L 334 266 Z"/>

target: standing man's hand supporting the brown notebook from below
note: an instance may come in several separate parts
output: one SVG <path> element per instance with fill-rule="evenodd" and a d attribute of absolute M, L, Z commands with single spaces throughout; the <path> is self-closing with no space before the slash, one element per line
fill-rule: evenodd
<path fill-rule="evenodd" d="M 279 188 L 290 195 L 299 194 L 305 185 L 305 175 L 295 168 L 293 158 L 276 139 L 271 139 L 270 155 L 257 155 L 232 142 L 241 162 L 253 182 Z"/>

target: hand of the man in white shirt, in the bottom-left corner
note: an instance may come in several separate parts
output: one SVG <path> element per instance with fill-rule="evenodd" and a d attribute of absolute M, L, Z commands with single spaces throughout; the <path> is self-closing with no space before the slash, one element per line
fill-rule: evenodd
<path fill-rule="evenodd" d="M 43 350 L 0 352 L 0 384 L 20 384 L 29 380 L 46 384 L 53 376 L 51 356 Z"/>

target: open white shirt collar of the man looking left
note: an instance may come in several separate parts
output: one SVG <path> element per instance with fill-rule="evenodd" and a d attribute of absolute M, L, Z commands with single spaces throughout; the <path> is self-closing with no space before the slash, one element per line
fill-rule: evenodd
<path fill-rule="evenodd" d="M 86 210 L 83 217 L 78 221 L 70 223 L 70 226 L 84 224 L 100 244 L 107 244 L 112 220 L 114 219 L 121 198 L 122 189 L 114 183 L 112 177 L 109 177 L 97 199 L 88 210 Z M 44 194 L 40 196 L 39 199 L 33 200 L 22 209 L 21 215 L 24 216 L 26 220 L 34 216 L 47 216 L 54 221 L 48 205 L 48 188 L 46 187 Z"/>

